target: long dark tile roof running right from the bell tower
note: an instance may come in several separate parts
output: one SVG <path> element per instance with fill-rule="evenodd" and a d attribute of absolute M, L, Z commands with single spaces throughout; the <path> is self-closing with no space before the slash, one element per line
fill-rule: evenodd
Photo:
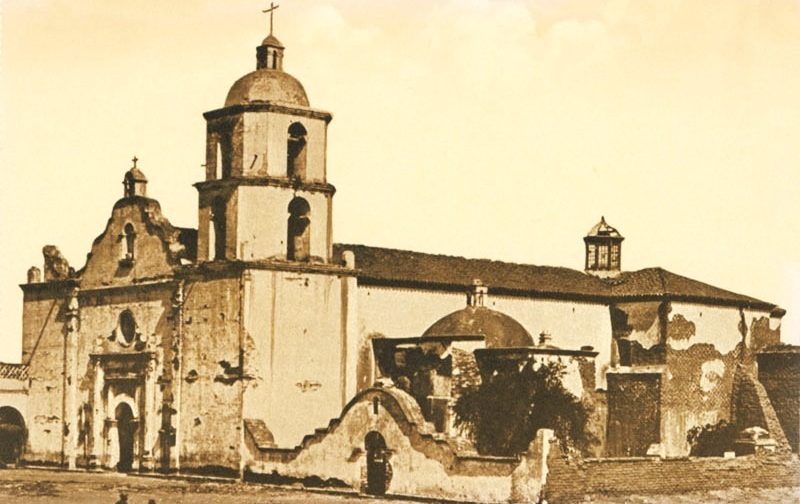
<path fill-rule="evenodd" d="M 692 280 L 662 268 L 623 272 L 600 279 L 583 271 L 488 259 L 426 254 L 367 245 L 334 244 L 334 256 L 355 254 L 359 282 L 467 291 L 480 279 L 498 294 L 560 299 L 624 301 L 670 298 L 711 304 L 772 309 L 774 304 Z"/>

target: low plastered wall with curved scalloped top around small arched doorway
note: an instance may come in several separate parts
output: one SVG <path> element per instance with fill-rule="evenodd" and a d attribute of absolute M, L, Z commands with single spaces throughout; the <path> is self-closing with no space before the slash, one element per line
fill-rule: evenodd
<path fill-rule="evenodd" d="M 374 400 L 377 399 L 377 412 Z M 506 502 L 518 459 L 458 456 L 422 419 L 419 407 L 397 389 L 369 389 L 355 398 L 340 420 L 318 429 L 290 451 L 259 451 L 248 441 L 248 471 L 306 479 L 316 477 L 360 489 L 365 484 L 365 437 L 383 436 L 391 451 L 388 494 Z"/>

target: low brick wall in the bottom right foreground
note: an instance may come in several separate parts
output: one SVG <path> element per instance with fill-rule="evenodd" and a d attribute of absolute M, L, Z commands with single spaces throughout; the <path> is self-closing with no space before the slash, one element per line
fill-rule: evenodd
<path fill-rule="evenodd" d="M 551 447 L 554 448 L 554 447 Z M 545 498 L 583 502 L 593 495 L 666 495 L 726 488 L 793 487 L 800 461 L 789 458 L 628 458 L 568 460 L 551 449 Z"/>

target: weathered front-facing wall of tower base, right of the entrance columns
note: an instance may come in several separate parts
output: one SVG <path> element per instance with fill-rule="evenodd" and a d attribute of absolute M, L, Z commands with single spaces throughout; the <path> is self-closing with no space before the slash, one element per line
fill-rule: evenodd
<path fill-rule="evenodd" d="M 180 421 L 182 471 L 236 474 L 241 445 L 238 275 L 187 281 L 182 311 Z"/>

